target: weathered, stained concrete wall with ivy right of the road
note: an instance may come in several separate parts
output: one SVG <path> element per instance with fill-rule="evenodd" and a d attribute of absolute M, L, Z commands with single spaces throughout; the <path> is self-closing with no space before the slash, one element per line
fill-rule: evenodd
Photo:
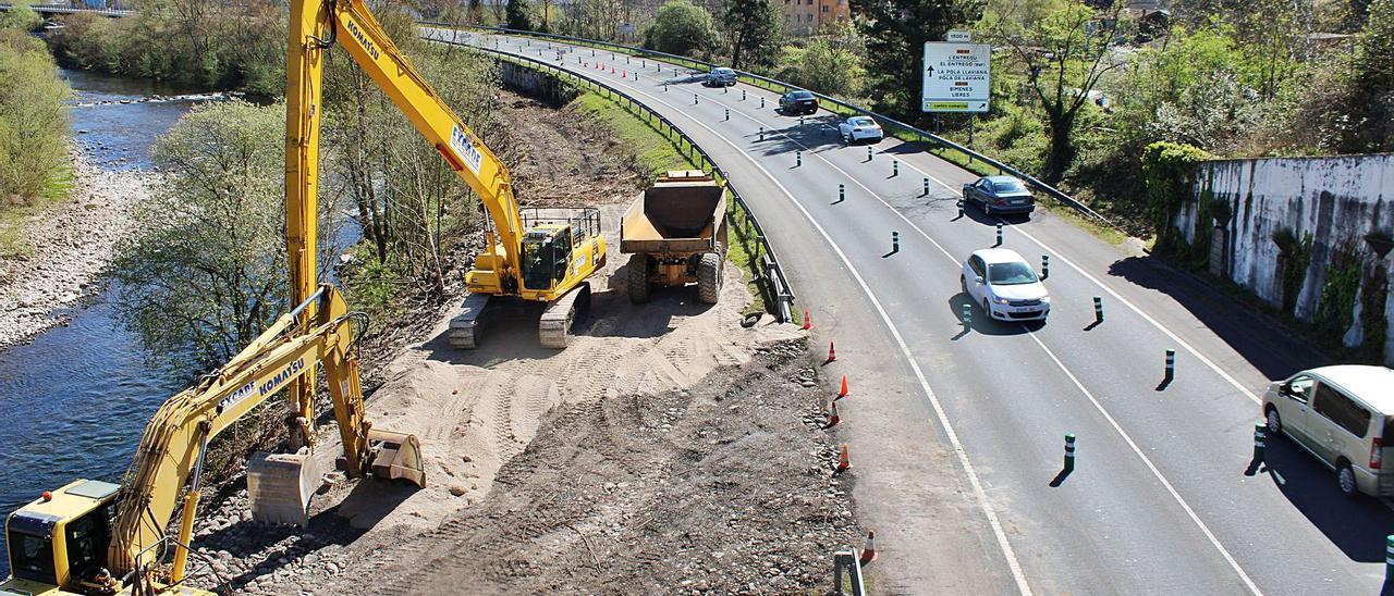
<path fill-rule="evenodd" d="M 1211 263 L 1211 267 L 1276 308 L 1281 308 L 1284 299 L 1280 251 L 1271 237 L 1282 227 L 1292 228 L 1298 238 L 1312 234 L 1312 259 L 1292 309 L 1298 319 L 1312 320 L 1326 267 L 1342 246 L 1355 248 L 1361 255 L 1362 291 L 1365 281 L 1387 279 L 1380 273 L 1390 273 L 1394 255 L 1380 259 L 1363 237 L 1376 230 L 1394 234 L 1394 205 L 1390 205 L 1394 201 L 1394 153 L 1216 160 L 1202 164 L 1195 178 L 1193 201 L 1177 217 L 1177 227 L 1188 242 L 1196 242 L 1197 235 L 1199 241 L 1210 242 L 1213 220 L 1204 221 L 1197 234 L 1199 199 L 1209 194 L 1228 202 L 1234 217 L 1225 234 L 1216 234 L 1223 245 L 1213 252 L 1223 255 L 1224 263 Z M 1359 302 L 1356 299 L 1356 305 Z M 1394 316 L 1394 304 L 1386 302 L 1388 319 Z M 1356 312 L 1352 327 L 1359 326 Z M 1394 365 L 1394 324 L 1387 336 L 1386 363 Z M 1345 343 L 1358 345 L 1362 338 L 1363 330 L 1352 329 Z"/>

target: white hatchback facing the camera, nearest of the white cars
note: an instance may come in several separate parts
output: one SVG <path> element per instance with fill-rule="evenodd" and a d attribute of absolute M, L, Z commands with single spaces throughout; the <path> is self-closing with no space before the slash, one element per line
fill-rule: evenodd
<path fill-rule="evenodd" d="M 1022 255 L 1005 248 L 974 251 L 959 274 L 963 294 L 999 320 L 1046 320 L 1050 294 Z"/>

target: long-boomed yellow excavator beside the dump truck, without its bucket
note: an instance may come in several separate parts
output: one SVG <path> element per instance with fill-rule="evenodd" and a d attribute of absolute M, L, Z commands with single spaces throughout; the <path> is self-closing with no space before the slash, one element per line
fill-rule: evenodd
<path fill-rule="evenodd" d="M 406 56 L 393 46 L 386 32 L 361 0 L 293 1 L 291 52 L 287 124 L 298 131 L 296 139 L 305 148 L 319 142 L 319 77 L 323 50 L 339 40 L 355 63 L 388 93 L 411 124 L 431 142 L 450 167 L 480 196 L 492 226 L 487 228 L 484 251 L 466 273 L 464 311 L 450 320 L 450 345 L 474 348 L 488 322 L 488 305 L 500 297 L 546 304 L 538 323 L 538 338 L 549 348 L 565 348 L 572 327 L 590 305 L 591 287 L 585 281 L 605 266 L 605 238 L 601 237 L 599 210 L 519 209 L 507 167 L 480 141 Z M 302 39 L 302 47 L 294 40 Z M 296 72 L 314 72 L 296 77 Z M 294 85 L 300 84 L 300 88 Z M 308 163 L 300 167 L 300 184 L 287 192 L 304 198 L 314 195 L 318 152 L 301 152 Z M 289 199 L 289 196 L 287 196 Z M 314 201 L 301 201 L 311 209 Z M 305 246 L 314 238 L 304 240 Z M 308 294 L 312 284 L 302 281 Z"/>

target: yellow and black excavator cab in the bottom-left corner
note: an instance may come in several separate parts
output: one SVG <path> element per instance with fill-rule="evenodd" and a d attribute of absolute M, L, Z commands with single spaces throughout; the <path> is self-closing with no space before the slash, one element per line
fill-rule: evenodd
<path fill-rule="evenodd" d="M 102 575 L 117 490 L 110 482 L 75 480 L 10 514 L 4 532 L 11 577 L 0 583 L 0 595 L 114 592 L 116 583 Z"/>

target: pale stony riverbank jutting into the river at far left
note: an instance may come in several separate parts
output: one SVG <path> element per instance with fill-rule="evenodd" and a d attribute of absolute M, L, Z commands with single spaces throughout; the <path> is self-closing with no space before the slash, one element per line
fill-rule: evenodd
<path fill-rule="evenodd" d="M 0 350 L 67 323 L 56 309 L 78 305 L 99 288 L 116 244 L 135 227 L 131 207 L 159 174 L 106 171 L 72 150 L 72 198 L 25 219 L 29 251 L 0 258 Z"/>

